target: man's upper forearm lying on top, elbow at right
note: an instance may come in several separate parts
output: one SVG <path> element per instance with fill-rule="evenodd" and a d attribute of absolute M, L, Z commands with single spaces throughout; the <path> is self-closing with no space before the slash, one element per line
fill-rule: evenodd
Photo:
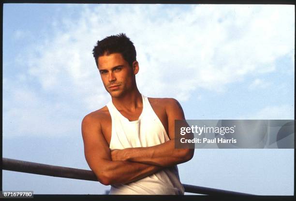
<path fill-rule="evenodd" d="M 193 150 L 175 149 L 175 141 L 169 140 L 151 147 L 127 148 L 118 151 L 120 152 L 118 160 L 170 167 L 190 160 Z"/>

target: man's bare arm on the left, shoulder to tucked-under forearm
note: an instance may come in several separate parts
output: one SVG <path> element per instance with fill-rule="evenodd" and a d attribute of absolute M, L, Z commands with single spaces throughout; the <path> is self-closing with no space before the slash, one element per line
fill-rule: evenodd
<path fill-rule="evenodd" d="M 86 160 L 103 185 L 133 182 L 163 168 L 130 161 L 112 161 L 108 143 L 97 119 L 86 116 L 81 131 Z"/>

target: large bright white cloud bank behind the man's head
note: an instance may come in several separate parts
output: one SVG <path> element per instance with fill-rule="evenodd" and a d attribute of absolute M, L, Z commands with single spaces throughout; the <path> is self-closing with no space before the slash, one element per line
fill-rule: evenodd
<path fill-rule="evenodd" d="M 140 64 L 140 92 L 179 101 L 188 100 L 198 88 L 223 92 L 226 84 L 248 75 L 275 71 L 277 58 L 294 56 L 293 6 L 77 6 L 81 7 L 77 20 L 64 16 L 51 21 L 52 32 L 47 35 L 52 37 L 33 44 L 28 48 L 30 52 L 17 55 L 17 60 L 25 61 L 28 68 L 19 78 L 23 83 L 38 83 L 42 93 L 30 87 L 21 88 L 24 91 L 20 93 L 17 88 L 21 84 L 7 87 L 15 103 L 26 99 L 35 104 L 7 108 L 4 116 L 21 126 L 15 132 L 38 135 L 44 131 L 42 127 L 48 127 L 44 131 L 47 135 L 62 127 L 63 133 L 73 123 L 56 120 L 53 124 L 59 107 L 95 110 L 105 105 L 109 95 L 91 51 L 97 40 L 111 34 L 125 32 L 134 42 Z M 16 92 L 20 95 L 14 96 Z M 47 101 L 45 107 L 41 99 L 44 94 L 62 98 L 63 103 Z M 38 125 L 34 125 L 36 119 Z"/>

